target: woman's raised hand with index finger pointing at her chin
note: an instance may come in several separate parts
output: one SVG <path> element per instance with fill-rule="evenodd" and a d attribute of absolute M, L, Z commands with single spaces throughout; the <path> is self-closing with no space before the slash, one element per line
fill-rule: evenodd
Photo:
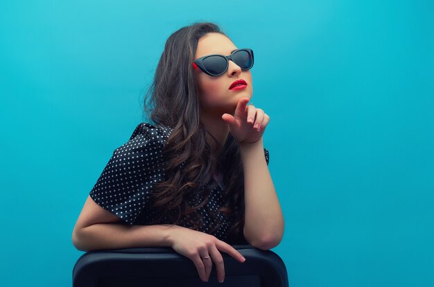
<path fill-rule="evenodd" d="M 234 116 L 223 114 L 222 119 L 229 125 L 229 132 L 238 143 L 254 143 L 261 139 L 270 116 L 253 105 L 247 105 L 249 98 L 241 98 L 236 105 Z"/>

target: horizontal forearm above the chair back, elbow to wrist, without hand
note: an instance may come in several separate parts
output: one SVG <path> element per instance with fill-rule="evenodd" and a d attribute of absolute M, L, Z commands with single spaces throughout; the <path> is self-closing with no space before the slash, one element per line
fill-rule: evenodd
<path fill-rule="evenodd" d="M 169 234 L 176 227 L 98 223 L 73 232 L 73 245 L 81 251 L 171 246 Z"/>

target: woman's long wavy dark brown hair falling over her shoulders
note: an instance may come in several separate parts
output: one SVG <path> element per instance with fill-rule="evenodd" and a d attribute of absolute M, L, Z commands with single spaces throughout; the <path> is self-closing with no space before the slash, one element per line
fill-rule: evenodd
<path fill-rule="evenodd" d="M 223 199 L 227 205 L 217 212 L 235 218 L 227 242 L 236 244 L 243 238 L 244 226 L 244 175 L 239 146 L 229 133 L 220 153 L 211 156 L 206 140 L 208 131 L 200 122 L 198 88 L 191 69 L 198 40 L 207 33 L 227 37 L 216 24 L 208 22 L 180 28 L 168 37 L 152 85 L 145 95 L 144 110 L 148 119 L 173 129 L 163 150 L 167 159 L 164 164 L 166 177 L 154 186 L 153 207 L 160 208 L 174 225 L 183 217 L 189 218 L 193 229 L 198 229 L 203 224 L 198 208 L 206 205 L 209 191 L 215 187 L 209 186 L 212 174 L 220 171 L 225 184 Z M 203 193 L 204 200 L 189 206 L 187 199 L 198 192 Z M 216 214 L 210 215 L 216 218 Z M 220 224 L 212 226 L 209 234 L 219 227 Z"/>

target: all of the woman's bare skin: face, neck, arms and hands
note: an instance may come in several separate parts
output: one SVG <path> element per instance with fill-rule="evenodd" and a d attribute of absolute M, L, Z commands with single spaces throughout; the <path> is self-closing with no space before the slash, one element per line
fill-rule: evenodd
<path fill-rule="evenodd" d="M 236 46 L 227 37 L 210 33 L 200 39 L 196 58 L 209 53 L 229 55 L 234 49 Z M 279 244 L 284 232 L 283 215 L 263 152 L 262 134 L 270 118 L 263 110 L 247 105 L 253 92 L 250 71 L 241 71 L 229 61 L 229 69 L 222 76 L 211 77 L 198 70 L 195 73 L 201 90 L 201 121 L 219 139 L 216 145 L 210 138 L 211 147 L 214 146 L 214 150 L 221 148 L 229 132 L 240 145 L 245 177 L 243 235 L 252 246 L 269 250 Z M 229 85 L 238 78 L 248 82 L 248 88 L 229 91 Z M 253 128 L 257 124 L 259 128 Z M 89 197 L 74 227 L 73 244 L 82 251 L 141 245 L 171 246 L 193 261 L 203 281 L 209 280 L 213 263 L 216 264 L 218 280 L 224 280 L 225 268 L 220 252 L 240 263 L 245 261 L 234 247 L 205 232 L 179 225 L 168 228 L 163 225 L 125 227 L 115 223 L 121 223 L 121 219 Z M 107 236 L 110 241 L 103 240 Z M 204 256 L 209 256 L 209 259 L 202 259 Z"/>

